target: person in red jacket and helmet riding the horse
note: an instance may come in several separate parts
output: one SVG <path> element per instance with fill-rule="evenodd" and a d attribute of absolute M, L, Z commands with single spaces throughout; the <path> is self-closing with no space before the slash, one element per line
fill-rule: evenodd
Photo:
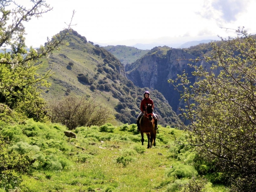
<path fill-rule="evenodd" d="M 141 100 L 141 103 L 140 103 L 140 115 L 137 117 L 137 126 L 138 126 L 138 129 L 137 131 L 139 132 L 140 131 L 140 118 L 143 114 L 146 114 L 146 107 L 147 107 L 147 103 L 148 104 L 151 104 L 152 105 L 152 109 L 154 109 L 154 102 L 152 99 L 149 98 L 149 92 L 148 91 L 145 91 L 144 92 L 144 99 Z M 158 129 L 158 126 L 157 126 L 157 118 L 156 118 L 156 114 L 153 113 L 153 118 L 155 119 L 155 130 Z"/>

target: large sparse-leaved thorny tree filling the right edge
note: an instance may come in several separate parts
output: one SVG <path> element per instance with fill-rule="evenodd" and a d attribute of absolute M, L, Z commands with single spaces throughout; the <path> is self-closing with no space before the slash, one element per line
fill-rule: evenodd
<path fill-rule="evenodd" d="M 244 29 L 236 33 L 212 43 L 213 56 L 204 58 L 215 61 L 210 70 L 191 64 L 195 84 L 185 73 L 169 82 L 187 104 L 181 110 L 191 122 L 182 126 L 189 144 L 214 162 L 232 191 L 256 191 L 256 43 Z"/>

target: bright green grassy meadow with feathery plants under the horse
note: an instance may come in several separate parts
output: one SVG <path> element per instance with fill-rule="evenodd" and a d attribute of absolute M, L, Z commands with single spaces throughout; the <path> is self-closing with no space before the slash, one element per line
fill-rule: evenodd
<path fill-rule="evenodd" d="M 135 124 L 117 127 L 109 123 L 78 127 L 71 130 L 75 139 L 64 135 L 65 126 L 29 119 L 25 124 L 4 126 L 0 132 L 11 140 L 9 150 L 35 160 L 15 191 L 178 192 L 196 178 L 195 155 L 174 142 L 185 139 L 183 131 L 160 125 L 156 147 L 147 149 L 146 135 L 142 146 L 136 129 Z M 0 184 L 10 188 L 4 180 Z M 227 191 L 210 182 L 204 187 L 209 192 Z"/>

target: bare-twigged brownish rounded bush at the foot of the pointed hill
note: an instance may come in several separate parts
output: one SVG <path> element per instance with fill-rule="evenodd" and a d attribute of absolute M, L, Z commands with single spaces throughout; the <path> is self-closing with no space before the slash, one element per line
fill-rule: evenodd
<path fill-rule="evenodd" d="M 96 102 L 95 98 L 68 95 L 54 102 L 50 108 L 52 122 L 66 125 L 70 130 L 78 126 L 100 126 L 113 119 L 108 108 Z"/>

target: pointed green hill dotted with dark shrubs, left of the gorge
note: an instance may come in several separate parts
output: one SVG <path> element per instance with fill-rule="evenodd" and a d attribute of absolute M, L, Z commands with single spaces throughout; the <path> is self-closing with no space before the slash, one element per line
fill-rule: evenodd
<path fill-rule="evenodd" d="M 69 46 L 63 46 L 59 52 L 52 52 L 48 59 L 38 61 L 43 63 L 39 74 L 45 74 L 49 69 L 54 73 L 49 78 L 52 86 L 43 94 L 47 101 L 54 102 L 68 94 L 95 97 L 113 111 L 117 124 L 132 124 L 136 123 L 143 92 L 149 90 L 159 124 L 178 123 L 178 116 L 162 93 L 135 86 L 126 77 L 124 65 L 113 54 L 99 45 L 87 43 L 85 39 L 73 31 L 65 39 Z"/>

